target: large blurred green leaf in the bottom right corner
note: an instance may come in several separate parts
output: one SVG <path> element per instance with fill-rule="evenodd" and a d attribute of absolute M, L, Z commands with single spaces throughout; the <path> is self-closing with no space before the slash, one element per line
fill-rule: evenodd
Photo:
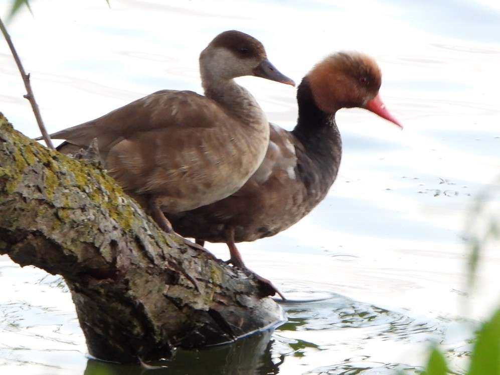
<path fill-rule="evenodd" d="M 467 375 L 500 375 L 500 309 L 476 334 Z"/>

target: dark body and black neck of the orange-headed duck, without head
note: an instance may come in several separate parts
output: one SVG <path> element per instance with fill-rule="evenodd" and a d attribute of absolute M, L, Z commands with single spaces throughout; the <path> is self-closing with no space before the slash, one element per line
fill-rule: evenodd
<path fill-rule="evenodd" d="M 342 150 L 334 115 L 314 104 L 308 82 L 297 92 L 299 120 L 292 132 L 271 125 L 264 162 L 236 193 L 213 204 L 168 215 L 188 237 L 235 242 L 274 235 L 307 215 L 326 195 L 339 170 Z"/>

